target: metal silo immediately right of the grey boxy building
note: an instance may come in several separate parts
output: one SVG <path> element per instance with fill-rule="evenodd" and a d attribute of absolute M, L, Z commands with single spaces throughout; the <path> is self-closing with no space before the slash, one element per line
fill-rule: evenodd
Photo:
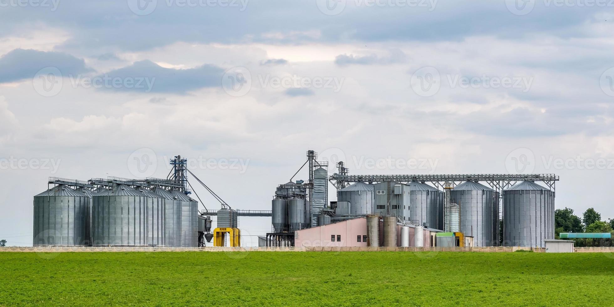
<path fill-rule="evenodd" d="M 409 182 L 410 190 L 410 220 L 417 225 L 427 223 L 429 228 L 441 229 L 439 217 L 443 216 L 440 211 L 440 190 L 422 182 Z M 443 202 L 442 202 L 443 203 Z"/>

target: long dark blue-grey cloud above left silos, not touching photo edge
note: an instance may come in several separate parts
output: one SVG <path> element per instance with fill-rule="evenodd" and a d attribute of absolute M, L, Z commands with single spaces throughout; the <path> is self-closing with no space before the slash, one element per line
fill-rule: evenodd
<path fill-rule="evenodd" d="M 214 65 L 203 65 L 198 68 L 172 69 L 163 68 L 149 60 L 138 61 L 131 66 L 107 72 L 104 76 L 122 80 L 146 79 L 141 85 L 144 87 L 104 87 L 120 91 L 143 91 L 152 93 L 179 93 L 184 94 L 191 90 L 203 87 L 218 87 L 221 84 L 224 70 Z M 150 82 L 149 88 L 147 82 Z"/>

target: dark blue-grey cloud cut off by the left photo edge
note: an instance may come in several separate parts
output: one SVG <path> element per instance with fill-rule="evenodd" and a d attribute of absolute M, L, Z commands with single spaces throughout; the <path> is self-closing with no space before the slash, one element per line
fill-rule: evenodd
<path fill-rule="evenodd" d="M 84 60 L 66 53 L 15 49 L 0 58 L 0 83 L 30 79 L 47 67 L 58 68 L 65 76 L 90 71 Z"/>

